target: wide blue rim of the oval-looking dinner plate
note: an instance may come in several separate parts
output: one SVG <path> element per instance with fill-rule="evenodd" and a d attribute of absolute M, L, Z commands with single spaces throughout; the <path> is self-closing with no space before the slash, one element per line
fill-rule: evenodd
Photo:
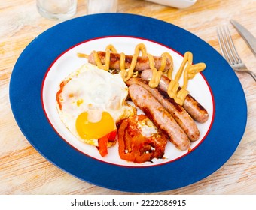
<path fill-rule="evenodd" d="M 97 26 L 97 27 L 94 27 Z M 205 62 L 203 71 L 215 98 L 215 116 L 206 139 L 190 154 L 159 166 L 125 167 L 88 157 L 51 127 L 41 103 L 41 86 L 50 65 L 67 49 L 97 37 L 141 37 Z M 47 160 L 77 178 L 113 190 L 159 192 L 193 184 L 226 163 L 245 131 L 247 106 L 236 74 L 209 44 L 178 26 L 149 17 L 103 13 L 60 23 L 24 49 L 10 83 L 11 108 L 26 139 Z"/>

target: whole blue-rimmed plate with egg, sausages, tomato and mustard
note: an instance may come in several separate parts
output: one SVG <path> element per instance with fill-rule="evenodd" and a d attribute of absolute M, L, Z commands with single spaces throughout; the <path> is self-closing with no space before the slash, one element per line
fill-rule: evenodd
<path fill-rule="evenodd" d="M 242 86 L 215 49 L 178 26 L 123 13 L 78 17 L 36 37 L 14 67 L 10 101 L 47 160 L 130 192 L 211 175 L 247 119 Z"/>

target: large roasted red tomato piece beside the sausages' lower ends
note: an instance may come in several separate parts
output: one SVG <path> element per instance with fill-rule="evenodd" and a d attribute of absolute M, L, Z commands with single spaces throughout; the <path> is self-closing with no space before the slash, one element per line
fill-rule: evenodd
<path fill-rule="evenodd" d="M 122 121 L 118 129 L 120 158 L 144 163 L 162 158 L 167 138 L 145 115 L 135 115 Z"/>

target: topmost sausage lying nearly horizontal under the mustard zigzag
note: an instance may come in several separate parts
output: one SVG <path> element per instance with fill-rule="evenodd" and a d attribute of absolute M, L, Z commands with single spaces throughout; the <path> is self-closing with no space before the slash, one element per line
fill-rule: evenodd
<path fill-rule="evenodd" d="M 102 65 L 105 65 L 105 52 L 99 51 L 97 52 L 99 55 L 99 59 L 102 62 Z M 162 58 L 159 56 L 154 56 L 154 65 L 157 70 L 161 66 L 161 61 Z M 133 60 L 133 55 L 125 55 L 125 68 L 130 68 L 131 62 Z M 93 53 L 91 53 L 88 57 L 88 62 L 96 65 L 96 62 L 94 60 Z M 166 67 L 164 71 L 169 70 L 169 68 L 172 67 L 172 62 L 169 60 L 169 58 L 166 59 Z M 117 69 L 120 70 L 120 54 L 118 53 L 110 53 L 110 64 L 109 64 L 110 69 Z M 143 71 L 145 69 L 148 69 L 149 67 L 149 62 L 148 62 L 148 57 L 147 56 L 138 56 L 136 66 L 134 71 Z"/>

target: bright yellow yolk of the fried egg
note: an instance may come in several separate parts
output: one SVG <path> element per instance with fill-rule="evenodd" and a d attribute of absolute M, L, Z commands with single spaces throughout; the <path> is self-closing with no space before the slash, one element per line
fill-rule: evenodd
<path fill-rule="evenodd" d="M 87 112 L 81 113 L 75 122 L 78 135 L 82 139 L 99 139 L 115 129 L 114 119 L 109 113 L 102 112 L 102 117 L 97 122 L 89 121 L 88 115 Z"/>

